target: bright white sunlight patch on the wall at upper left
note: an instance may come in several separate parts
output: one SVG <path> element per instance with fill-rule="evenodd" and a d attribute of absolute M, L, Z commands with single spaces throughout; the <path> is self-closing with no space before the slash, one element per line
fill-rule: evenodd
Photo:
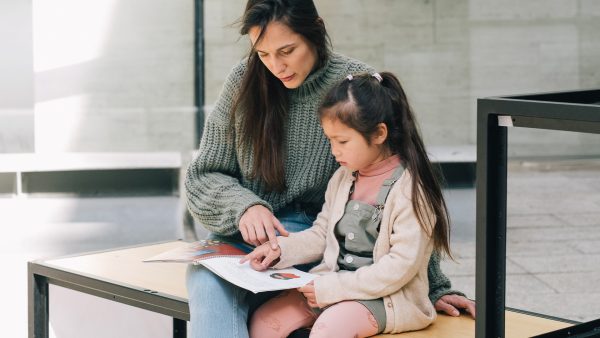
<path fill-rule="evenodd" d="M 90 100 L 81 72 L 105 53 L 115 5 L 116 0 L 33 0 L 36 152 L 73 147 Z M 54 97 L 48 99 L 48 92 Z"/>

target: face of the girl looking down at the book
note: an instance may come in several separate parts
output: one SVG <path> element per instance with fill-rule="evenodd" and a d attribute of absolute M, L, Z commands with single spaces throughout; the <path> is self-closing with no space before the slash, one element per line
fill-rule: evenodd
<path fill-rule="evenodd" d="M 377 131 L 371 137 L 371 144 L 356 129 L 348 127 L 338 119 L 326 117 L 321 120 L 321 125 L 331 143 L 331 153 L 335 160 L 351 171 L 364 169 L 389 156 L 384 145 L 387 138 L 387 127 L 384 123 L 378 125 Z"/>

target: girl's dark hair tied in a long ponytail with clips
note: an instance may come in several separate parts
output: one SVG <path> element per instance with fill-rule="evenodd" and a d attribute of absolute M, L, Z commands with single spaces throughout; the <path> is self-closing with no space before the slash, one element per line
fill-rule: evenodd
<path fill-rule="evenodd" d="M 392 73 L 380 76 L 381 82 L 374 75 L 361 74 L 338 83 L 323 99 L 319 116 L 339 120 L 358 131 L 369 144 L 377 126 L 386 125 L 385 145 L 400 156 L 412 175 L 411 199 L 421 227 L 431 233 L 436 251 L 452 257 L 450 218 L 439 175 L 429 161 L 400 81 Z M 428 225 L 433 225 L 433 229 Z"/>

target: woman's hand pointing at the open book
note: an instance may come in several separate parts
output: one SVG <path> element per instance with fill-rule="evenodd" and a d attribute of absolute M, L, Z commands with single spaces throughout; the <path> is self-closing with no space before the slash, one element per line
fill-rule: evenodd
<path fill-rule="evenodd" d="M 259 246 L 270 242 L 272 248 L 277 248 L 277 233 L 281 236 L 289 235 L 279 220 L 271 211 L 262 205 L 251 206 L 240 218 L 240 233 L 246 243 Z"/>

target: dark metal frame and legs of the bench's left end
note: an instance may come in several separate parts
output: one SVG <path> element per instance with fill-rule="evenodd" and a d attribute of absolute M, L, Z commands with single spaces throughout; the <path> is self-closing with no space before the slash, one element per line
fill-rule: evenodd
<path fill-rule="evenodd" d="M 137 246 L 132 248 L 135 247 Z M 110 251 L 112 250 L 95 253 Z M 80 255 L 70 257 L 76 256 Z M 54 259 L 57 258 L 52 260 Z M 81 272 L 56 268 L 44 260 L 28 262 L 27 284 L 30 338 L 49 337 L 49 284 L 173 317 L 173 337 L 185 338 L 187 335 L 187 321 L 190 319 L 187 299 L 115 283 L 98 276 L 88 276 Z"/>

